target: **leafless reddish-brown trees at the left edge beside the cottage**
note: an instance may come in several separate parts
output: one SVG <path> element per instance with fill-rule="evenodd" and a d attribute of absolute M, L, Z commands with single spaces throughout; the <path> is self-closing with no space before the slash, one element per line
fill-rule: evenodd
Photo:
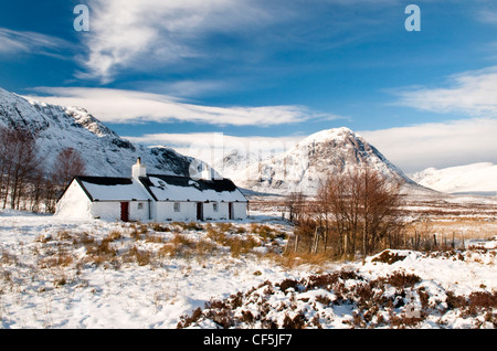
<path fill-rule="evenodd" d="M 38 135 L 27 128 L 0 126 L 0 206 L 53 212 L 59 196 L 74 176 L 83 174 L 81 155 L 65 148 L 46 164 L 36 148 Z"/>

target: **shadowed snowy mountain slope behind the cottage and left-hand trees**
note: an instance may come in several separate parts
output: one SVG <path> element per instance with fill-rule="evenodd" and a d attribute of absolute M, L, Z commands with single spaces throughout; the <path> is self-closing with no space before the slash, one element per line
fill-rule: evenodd
<path fill-rule="evenodd" d="M 0 126 L 25 127 L 38 134 L 38 153 L 50 168 L 66 147 L 80 151 L 87 174 L 130 177 L 138 157 L 147 171 L 188 174 L 192 158 L 166 147 L 147 148 L 120 138 L 87 110 L 29 100 L 0 88 Z"/>

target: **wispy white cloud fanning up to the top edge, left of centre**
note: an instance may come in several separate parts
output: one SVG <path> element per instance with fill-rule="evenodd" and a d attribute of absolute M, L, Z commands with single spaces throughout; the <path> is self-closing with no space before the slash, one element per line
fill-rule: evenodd
<path fill-rule="evenodd" d="M 123 67 L 158 68 L 203 56 L 202 38 L 208 33 L 232 34 L 263 25 L 268 14 L 262 6 L 247 0 L 89 1 L 84 62 L 88 73 L 81 76 L 108 82 Z"/>

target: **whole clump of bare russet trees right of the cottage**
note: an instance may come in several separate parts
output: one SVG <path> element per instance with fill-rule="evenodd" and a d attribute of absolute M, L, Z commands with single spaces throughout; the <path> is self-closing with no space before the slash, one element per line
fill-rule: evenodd
<path fill-rule="evenodd" d="M 317 194 L 287 198 L 290 220 L 296 223 L 290 249 L 306 247 L 335 257 L 363 256 L 392 247 L 401 233 L 402 196 L 396 182 L 363 168 L 330 176 Z M 299 247 L 300 245 L 300 247 Z"/>

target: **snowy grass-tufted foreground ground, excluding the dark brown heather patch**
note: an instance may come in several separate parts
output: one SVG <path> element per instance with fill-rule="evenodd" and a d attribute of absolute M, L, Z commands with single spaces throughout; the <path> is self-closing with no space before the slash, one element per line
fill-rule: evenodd
<path fill-rule="evenodd" d="M 260 230 L 250 222 L 261 221 L 274 232 L 253 234 Z M 253 304 L 255 296 L 261 297 L 254 294 L 263 289 L 274 291 L 266 305 L 272 308 L 267 316 L 274 315 L 283 323 L 288 312 L 284 306 L 295 301 L 298 289 L 290 289 L 289 292 L 278 290 L 282 281 L 303 281 L 313 275 L 350 270 L 369 281 L 399 272 L 416 275 L 421 280 L 415 283 L 415 289 L 410 287 L 411 290 L 408 290 L 413 294 L 427 291 L 432 300 L 440 299 L 436 304 L 444 306 L 447 304 L 444 300 L 447 291 L 453 291 L 455 296 L 469 296 L 475 291 L 497 290 L 496 241 L 485 242 L 486 246 L 482 249 L 461 255 L 392 251 L 403 257 L 392 264 L 374 259 L 379 257 L 377 255 L 366 262 L 283 267 L 269 256 L 254 254 L 267 252 L 271 247 L 276 247 L 276 252 L 284 247 L 285 241 L 279 234 L 288 233 L 290 228 L 282 222 L 263 214 L 254 215 L 246 222 L 234 222 L 224 230 L 231 232 L 221 238 L 224 240 L 223 245 L 219 244 L 220 241 L 213 243 L 214 234 L 219 238 L 222 231 L 209 234 L 209 227 L 218 228 L 218 225 L 221 227 L 222 224 L 202 224 L 201 227 L 187 227 L 184 224 L 175 227 L 169 224 L 165 231 L 166 225 L 154 227 L 152 224 L 144 226 L 99 220 L 76 222 L 52 215 L 2 211 L 0 326 L 172 329 L 194 309 L 204 309 L 205 302 L 229 299 L 240 292 L 245 294 L 247 302 Z M 237 246 L 232 246 L 231 251 L 228 248 L 228 238 L 248 243 L 245 240 L 250 236 L 253 237 L 252 244 L 257 243 L 248 248 L 250 254 L 233 255 L 233 247 Z M 165 251 L 165 247 L 168 249 Z M 200 254 L 202 251 L 209 254 Z M 349 288 L 345 291 L 351 294 L 353 286 L 363 280 L 340 281 Z M 320 320 L 322 328 L 350 328 L 360 311 L 353 305 L 356 302 L 351 304 L 353 296 L 348 300 L 342 297 L 345 302 L 336 302 L 332 307 L 317 304 L 317 300 L 326 300 L 325 297 L 337 300 L 338 292 L 326 290 L 322 286 L 302 292 L 304 295 L 298 297 L 298 304 L 305 306 L 300 308 L 310 313 L 310 306 L 314 306 L 313 313 L 321 319 L 314 318 Z M 399 291 L 387 286 L 382 294 L 396 296 Z M 317 305 L 320 307 L 316 308 Z M 250 304 L 245 307 L 255 308 Z M 405 309 L 405 306 L 400 305 L 399 308 Z M 424 320 L 417 327 L 493 328 L 495 312 L 494 306 L 494 315 L 490 313 L 494 320 L 490 318 L 488 321 L 488 312 L 486 317 L 473 316 L 468 319 L 451 311 L 443 316 L 442 323 L 436 322 L 442 320 L 438 316 Z M 213 328 L 216 325 L 204 319 L 197 326 Z"/>

